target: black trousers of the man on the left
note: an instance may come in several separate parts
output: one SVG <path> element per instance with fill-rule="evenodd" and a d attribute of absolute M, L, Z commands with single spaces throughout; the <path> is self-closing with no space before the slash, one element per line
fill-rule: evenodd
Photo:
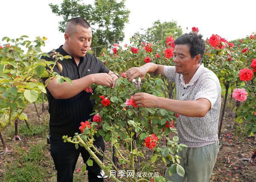
<path fill-rule="evenodd" d="M 81 153 L 81 156 L 84 162 L 90 157 L 90 154 L 86 151 L 84 147 L 79 145 L 79 149 L 75 148 L 75 144 L 69 142 L 63 142 L 62 137 L 50 136 L 50 153 L 57 170 L 57 181 L 58 182 L 73 182 L 73 173 L 76 168 L 76 162 Z M 93 144 L 97 148 L 102 148 L 102 151 L 105 150 L 105 143 L 103 138 L 95 137 Z M 100 160 L 103 160 L 102 156 L 98 156 Z M 90 158 L 92 159 L 92 158 Z M 93 160 L 93 159 L 92 159 Z M 101 168 L 93 160 L 93 166 L 86 166 L 88 171 L 89 182 L 103 182 L 101 176 Z"/>

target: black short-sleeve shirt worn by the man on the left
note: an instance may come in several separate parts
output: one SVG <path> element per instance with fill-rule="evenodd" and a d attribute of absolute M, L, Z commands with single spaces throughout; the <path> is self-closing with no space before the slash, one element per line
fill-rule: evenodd
<path fill-rule="evenodd" d="M 61 55 L 69 55 L 62 46 L 55 50 Z M 49 52 L 50 54 L 51 52 Z M 42 57 L 45 60 L 52 60 L 49 57 Z M 54 60 L 52 60 L 54 61 Z M 80 58 L 80 63 L 77 66 L 74 58 L 58 61 L 62 65 L 60 73 L 57 65 L 54 71 L 63 77 L 69 77 L 71 80 L 76 80 L 89 74 L 108 73 L 109 69 L 93 54 L 85 54 Z M 48 78 L 43 78 L 45 81 Z M 93 112 L 94 100 L 90 100 L 91 93 L 81 91 L 76 96 L 69 99 L 55 99 L 47 89 L 47 99 L 49 102 L 49 129 L 52 136 L 62 137 L 68 135 L 73 137 L 74 133 L 80 132 L 80 122 L 90 119 L 90 114 Z"/>

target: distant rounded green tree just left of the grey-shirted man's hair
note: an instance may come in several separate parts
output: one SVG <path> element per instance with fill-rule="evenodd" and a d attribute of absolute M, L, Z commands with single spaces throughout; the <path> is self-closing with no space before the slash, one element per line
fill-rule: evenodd
<path fill-rule="evenodd" d="M 136 32 L 133 35 L 135 40 L 139 40 L 140 42 L 152 42 L 156 43 L 159 41 L 160 44 L 166 43 L 166 37 L 173 35 L 175 38 L 182 34 L 182 29 L 180 26 L 177 26 L 176 21 L 170 22 L 163 22 L 161 23 L 160 20 L 157 20 L 153 23 L 153 26 L 147 28 L 146 30 L 141 29 L 144 31 L 143 33 Z"/>

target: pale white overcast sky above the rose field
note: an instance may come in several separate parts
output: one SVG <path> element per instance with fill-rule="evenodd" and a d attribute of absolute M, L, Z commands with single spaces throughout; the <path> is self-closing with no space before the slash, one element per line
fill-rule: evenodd
<path fill-rule="evenodd" d="M 49 3 L 60 4 L 62 0 L 0 0 L 0 39 L 17 38 L 26 34 L 30 39 L 47 37 L 43 51 L 58 48 L 64 43 L 64 34 L 58 31 L 61 17 L 55 16 Z M 84 0 L 91 3 L 93 0 Z M 193 26 L 199 28 L 204 39 L 218 34 L 234 40 L 256 31 L 255 0 L 126 0 L 131 11 L 125 26 L 125 41 L 140 28 L 148 28 L 156 20 L 177 21 L 188 32 Z M 188 30 L 186 30 L 188 27 Z M 0 41 L 0 44 L 3 43 Z"/>

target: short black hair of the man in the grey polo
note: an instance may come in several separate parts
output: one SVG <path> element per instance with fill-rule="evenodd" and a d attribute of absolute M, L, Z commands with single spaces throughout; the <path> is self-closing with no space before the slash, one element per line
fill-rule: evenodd
<path fill-rule="evenodd" d="M 197 54 L 201 55 L 201 59 L 199 62 L 202 62 L 202 59 L 204 57 L 204 51 L 205 51 L 205 42 L 204 39 L 202 39 L 201 34 L 196 34 L 190 32 L 189 34 L 183 34 L 180 37 L 178 37 L 175 41 L 175 45 L 179 44 L 186 44 L 189 46 L 189 52 L 191 57 L 195 57 Z"/>

